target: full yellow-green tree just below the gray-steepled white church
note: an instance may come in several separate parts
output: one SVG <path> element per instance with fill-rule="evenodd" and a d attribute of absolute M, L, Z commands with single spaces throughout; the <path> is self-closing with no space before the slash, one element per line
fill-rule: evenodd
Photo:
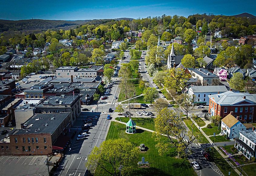
<path fill-rule="evenodd" d="M 181 91 L 185 86 L 185 81 L 189 77 L 190 75 L 186 74 L 185 70 L 181 70 L 180 68 L 171 68 L 166 72 L 166 76 L 164 78 L 165 87 Z"/>

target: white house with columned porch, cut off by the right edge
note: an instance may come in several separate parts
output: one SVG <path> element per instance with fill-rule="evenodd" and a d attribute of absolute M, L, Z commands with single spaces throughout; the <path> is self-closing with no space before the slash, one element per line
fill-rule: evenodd
<path fill-rule="evenodd" d="M 234 147 L 238 149 L 249 160 L 255 157 L 256 131 L 252 130 L 239 131 L 239 138 L 235 139 Z"/>

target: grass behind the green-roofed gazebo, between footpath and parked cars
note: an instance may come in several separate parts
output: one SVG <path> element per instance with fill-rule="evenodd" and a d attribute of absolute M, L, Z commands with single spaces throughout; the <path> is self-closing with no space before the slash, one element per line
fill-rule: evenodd
<path fill-rule="evenodd" d="M 127 123 L 129 121 L 128 117 L 117 117 L 115 120 L 122 121 Z M 136 123 L 137 126 L 147 128 L 150 130 L 155 130 L 154 118 L 132 118 L 132 120 Z"/>

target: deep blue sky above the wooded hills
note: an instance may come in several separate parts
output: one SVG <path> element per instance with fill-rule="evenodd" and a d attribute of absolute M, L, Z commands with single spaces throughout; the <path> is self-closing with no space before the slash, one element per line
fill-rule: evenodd
<path fill-rule="evenodd" d="M 256 15 L 255 0 L 1 0 L 0 19 L 86 20 L 192 14 Z"/>

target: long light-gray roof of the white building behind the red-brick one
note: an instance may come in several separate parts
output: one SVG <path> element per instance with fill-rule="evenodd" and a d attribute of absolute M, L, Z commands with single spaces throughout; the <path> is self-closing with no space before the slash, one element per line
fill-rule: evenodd
<path fill-rule="evenodd" d="M 189 88 L 192 92 L 226 92 L 228 89 L 224 85 L 218 86 L 192 86 Z"/>

